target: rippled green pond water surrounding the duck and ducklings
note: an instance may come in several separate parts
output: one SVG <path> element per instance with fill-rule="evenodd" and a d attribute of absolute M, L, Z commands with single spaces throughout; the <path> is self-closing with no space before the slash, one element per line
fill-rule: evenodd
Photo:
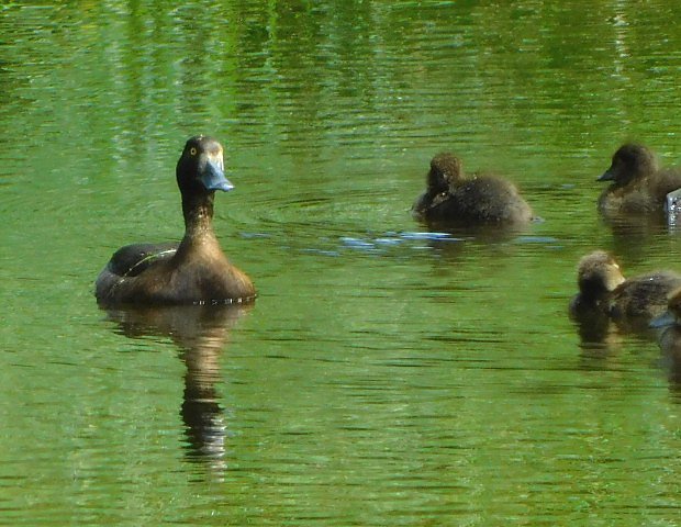
<path fill-rule="evenodd" d="M 513 3 L 511 5 L 511 3 Z M 0 524 L 678 525 L 681 383 L 580 337 L 579 258 L 626 139 L 681 160 L 681 4 L 0 7 Z M 225 146 L 248 307 L 104 312 L 118 247 L 182 234 L 187 137 Z M 431 157 L 542 221 L 429 233 Z"/>

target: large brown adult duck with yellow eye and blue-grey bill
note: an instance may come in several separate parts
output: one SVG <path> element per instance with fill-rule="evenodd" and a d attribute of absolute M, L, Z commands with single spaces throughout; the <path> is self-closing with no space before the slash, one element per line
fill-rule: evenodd
<path fill-rule="evenodd" d="M 100 272 L 100 304 L 204 304 L 248 302 L 250 279 L 226 258 L 212 227 L 216 190 L 233 189 L 223 171 L 217 141 L 187 141 L 176 169 L 182 197 L 185 237 L 179 244 L 133 244 L 120 248 Z"/>

